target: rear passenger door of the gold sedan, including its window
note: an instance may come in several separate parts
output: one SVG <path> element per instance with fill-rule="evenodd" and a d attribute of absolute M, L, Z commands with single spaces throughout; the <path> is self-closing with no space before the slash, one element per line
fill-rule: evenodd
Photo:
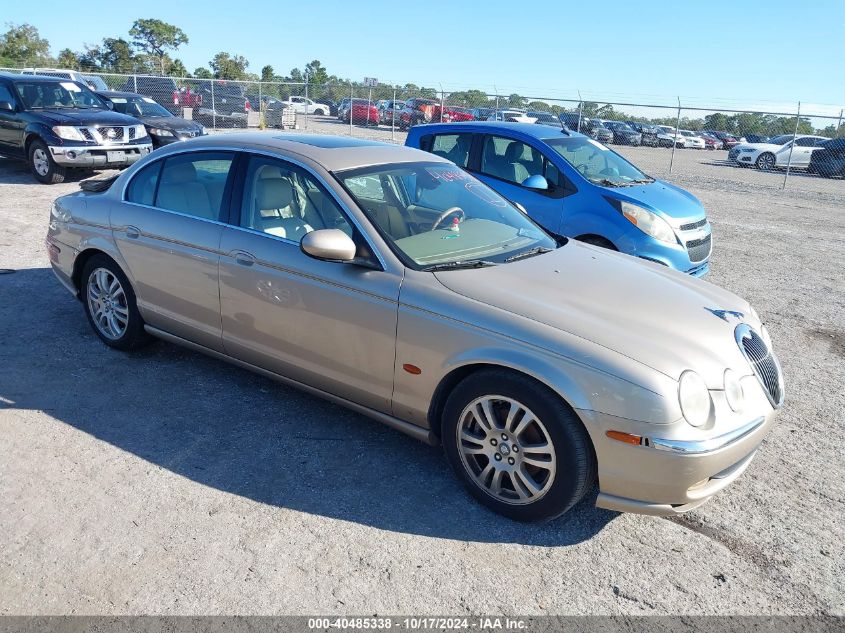
<path fill-rule="evenodd" d="M 235 154 L 185 152 L 134 175 L 111 225 L 149 325 L 222 351 L 220 222 Z"/>

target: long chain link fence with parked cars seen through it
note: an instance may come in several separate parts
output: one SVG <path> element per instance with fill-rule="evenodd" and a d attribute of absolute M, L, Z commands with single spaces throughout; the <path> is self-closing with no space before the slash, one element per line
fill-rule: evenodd
<path fill-rule="evenodd" d="M 21 72 L 21 69 L 0 69 Z M 845 178 L 843 109 L 721 107 L 677 99 L 641 103 L 502 95 L 479 90 L 359 82 L 308 84 L 230 81 L 38 69 L 85 81 L 95 90 L 135 92 L 212 130 L 296 129 L 403 143 L 421 123 L 522 121 L 587 134 L 623 151 L 652 174 L 700 166 Z M 75 73 L 75 74 L 74 74 Z M 838 110 L 838 111 L 837 111 Z M 830 139 L 841 139 L 829 141 Z"/>

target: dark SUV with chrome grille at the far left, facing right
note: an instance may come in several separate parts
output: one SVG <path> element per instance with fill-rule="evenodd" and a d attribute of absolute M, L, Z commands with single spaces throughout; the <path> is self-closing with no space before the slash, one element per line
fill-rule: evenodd
<path fill-rule="evenodd" d="M 113 112 L 85 84 L 0 73 L 0 155 L 24 160 L 36 180 L 71 169 L 119 169 L 152 151 L 138 119 Z"/>

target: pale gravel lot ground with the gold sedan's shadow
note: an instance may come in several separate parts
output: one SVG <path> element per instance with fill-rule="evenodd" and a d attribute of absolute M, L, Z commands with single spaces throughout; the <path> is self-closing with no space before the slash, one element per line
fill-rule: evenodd
<path fill-rule="evenodd" d="M 768 322 L 786 405 L 683 518 L 539 526 L 344 409 L 164 343 L 107 349 L 43 248 L 77 184 L 0 159 L 0 614 L 845 614 L 845 182 L 624 153 L 703 201 L 709 281 Z"/>

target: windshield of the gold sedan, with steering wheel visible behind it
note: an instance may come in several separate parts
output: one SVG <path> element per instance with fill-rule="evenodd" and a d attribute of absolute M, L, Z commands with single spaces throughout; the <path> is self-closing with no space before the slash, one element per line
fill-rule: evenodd
<path fill-rule="evenodd" d="M 401 163 L 337 175 L 409 266 L 504 263 L 557 247 L 526 215 L 451 163 Z"/>

